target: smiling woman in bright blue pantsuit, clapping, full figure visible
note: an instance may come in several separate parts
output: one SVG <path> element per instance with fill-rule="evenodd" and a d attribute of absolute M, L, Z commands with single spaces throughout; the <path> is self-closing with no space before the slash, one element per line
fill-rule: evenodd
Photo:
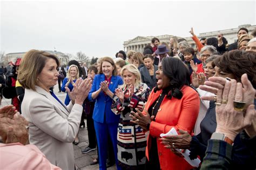
<path fill-rule="evenodd" d="M 104 57 L 100 64 L 99 74 L 93 79 L 92 88 L 88 96 L 89 100 L 96 99 L 92 118 L 98 143 L 99 169 L 106 169 L 108 133 L 113 144 L 117 169 L 121 169 L 117 160 L 117 128 L 120 115 L 116 115 L 111 111 L 111 105 L 114 90 L 118 85 L 122 84 L 123 80 L 117 76 L 117 69 L 113 59 Z"/>

